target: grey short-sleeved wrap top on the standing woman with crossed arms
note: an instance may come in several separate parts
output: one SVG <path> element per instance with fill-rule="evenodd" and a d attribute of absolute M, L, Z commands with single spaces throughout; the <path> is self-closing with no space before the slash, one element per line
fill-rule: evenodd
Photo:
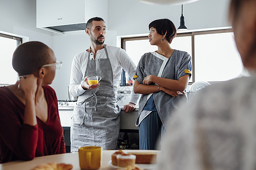
<path fill-rule="evenodd" d="M 179 80 L 181 76 L 191 75 L 191 73 L 186 73 L 186 70 L 191 70 L 191 56 L 187 52 L 174 50 L 170 58 L 156 52 L 145 53 L 138 63 L 136 71 L 138 77 L 136 80 L 142 84 L 143 79 L 148 75 Z M 185 95 L 172 97 L 163 91 L 155 92 L 154 94 L 143 94 L 139 100 L 139 117 L 136 121 L 136 126 L 150 113 L 150 111 L 143 111 L 143 109 L 151 95 L 154 97 L 154 103 L 164 127 L 166 127 L 168 118 L 178 105 L 187 101 Z"/>

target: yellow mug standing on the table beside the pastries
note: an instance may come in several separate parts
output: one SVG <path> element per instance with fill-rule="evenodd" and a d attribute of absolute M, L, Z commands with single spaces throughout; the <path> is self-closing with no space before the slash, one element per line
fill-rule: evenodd
<path fill-rule="evenodd" d="M 101 147 L 84 146 L 79 148 L 79 165 L 81 169 L 98 169 L 101 167 Z"/>

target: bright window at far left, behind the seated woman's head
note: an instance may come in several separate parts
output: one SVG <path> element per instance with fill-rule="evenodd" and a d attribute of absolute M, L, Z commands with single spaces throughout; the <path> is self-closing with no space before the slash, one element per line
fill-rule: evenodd
<path fill-rule="evenodd" d="M 0 84 L 14 84 L 17 80 L 16 71 L 13 69 L 11 59 L 16 47 L 22 43 L 19 37 L 0 33 Z"/>

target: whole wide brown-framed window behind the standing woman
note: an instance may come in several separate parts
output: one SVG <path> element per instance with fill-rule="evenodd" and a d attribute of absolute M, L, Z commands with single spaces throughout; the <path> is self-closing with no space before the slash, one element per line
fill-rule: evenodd
<path fill-rule="evenodd" d="M 150 45 L 147 36 L 123 37 L 121 47 L 136 65 L 144 53 L 157 50 L 157 46 Z M 229 80 L 240 76 L 243 71 L 232 29 L 177 33 L 171 47 L 191 54 L 190 84 L 199 81 L 213 83 Z"/>

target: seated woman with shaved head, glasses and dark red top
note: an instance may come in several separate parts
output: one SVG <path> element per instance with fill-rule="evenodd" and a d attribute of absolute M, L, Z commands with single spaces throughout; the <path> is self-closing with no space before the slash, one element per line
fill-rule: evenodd
<path fill-rule="evenodd" d="M 48 86 L 60 66 L 42 42 L 16 48 L 13 68 L 19 80 L 0 87 L 0 163 L 65 153 L 57 97 Z"/>

